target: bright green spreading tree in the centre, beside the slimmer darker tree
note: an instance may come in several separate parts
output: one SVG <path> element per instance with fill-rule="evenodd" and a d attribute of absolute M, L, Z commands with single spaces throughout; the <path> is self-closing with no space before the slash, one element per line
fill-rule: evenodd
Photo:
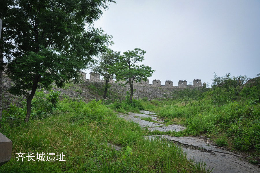
<path fill-rule="evenodd" d="M 141 80 L 147 80 L 148 77 L 152 76 L 155 70 L 145 65 L 136 65 L 138 62 L 144 60 L 144 54 L 146 51 L 135 48 L 134 50 L 125 51 L 120 56 L 119 62 L 117 62 L 113 68 L 116 74 L 116 81 L 125 81 L 124 85 L 129 83 L 130 86 L 130 97 L 133 98 L 133 82 L 140 82 Z"/>

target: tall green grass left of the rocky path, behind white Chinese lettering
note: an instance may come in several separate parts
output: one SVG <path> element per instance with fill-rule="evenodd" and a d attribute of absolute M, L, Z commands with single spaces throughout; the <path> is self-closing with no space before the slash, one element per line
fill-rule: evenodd
<path fill-rule="evenodd" d="M 13 147 L 11 160 L 0 172 L 209 172 L 203 163 L 187 160 L 174 143 L 144 139 L 145 131 L 138 124 L 118 118 L 101 101 L 65 99 L 44 118 L 25 124 L 19 117 L 8 121 L 5 117 L 1 125 Z M 63 152 L 66 161 L 16 162 L 20 152 Z"/>

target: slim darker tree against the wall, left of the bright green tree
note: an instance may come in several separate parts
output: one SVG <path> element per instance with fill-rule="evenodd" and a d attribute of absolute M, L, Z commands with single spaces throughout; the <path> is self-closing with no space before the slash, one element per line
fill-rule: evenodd
<path fill-rule="evenodd" d="M 103 98 L 105 99 L 107 96 L 107 89 L 110 87 L 109 80 L 113 80 L 115 75 L 111 71 L 112 67 L 115 65 L 117 60 L 120 57 L 120 51 L 112 51 L 111 49 L 108 49 L 107 52 L 103 53 L 100 57 L 100 62 L 98 65 L 92 65 L 91 69 L 92 71 L 99 73 L 103 76 L 105 82 L 105 91 Z"/>

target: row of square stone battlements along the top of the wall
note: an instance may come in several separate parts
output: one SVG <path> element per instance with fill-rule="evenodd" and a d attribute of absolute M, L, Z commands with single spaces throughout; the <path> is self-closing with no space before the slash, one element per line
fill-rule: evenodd
<path fill-rule="evenodd" d="M 100 74 L 91 72 L 90 73 L 90 79 L 86 79 L 86 73 L 85 72 L 80 72 L 82 75 L 83 81 L 93 81 L 93 82 L 104 82 L 104 80 L 100 79 Z M 109 83 L 114 83 L 116 81 L 110 80 Z M 192 87 L 203 87 L 204 85 L 206 86 L 206 83 L 201 83 L 201 79 L 194 79 L 192 85 L 187 85 L 187 80 L 179 80 L 178 81 L 178 86 L 173 85 L 172 80 L 166 80 L 164 82 L 165 85 L 161 85 L 160 79 L 154 79 L 153 84 L 149 84 L 149 79 L 143 79 L 140 82 L 134 82 L 134 85 L 146 85 L 146 86 L 151 86 L 151 87 L 166 87 L 166 88 L 175 88 L 175 89 L 180 89 L 180 88 L 192 88 Z M 118 83 L 124 83 L 123 81 L 119 81 Z"/>

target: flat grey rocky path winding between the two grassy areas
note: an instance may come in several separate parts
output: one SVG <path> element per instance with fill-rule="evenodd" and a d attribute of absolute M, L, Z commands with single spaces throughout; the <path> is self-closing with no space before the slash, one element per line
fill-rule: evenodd
<path fill-rule="evenodd" d="M 157 120 L 157 117 L 153 112 L 140 112 L 140 114 L 129 112 L 129 114 L 119 113 L 118 115 L 119 117 L 122 117 L 128 121 L 138 123 L 141 127 L 147 127 L 150 131 L 159 130 L 166 132 L 171 130 L 178 132 L 185 129 L 185 127 L 179 125 L 173 124 L 165 126 L 164 124 L 161 124 L 162 122 Z M 141 119 L 145 117 L 151 117 L 151 119 L 155 120 L 156 122 L 149 122 Z M 194 159 L 197 162 L 206 162 L 208 168 L 211 169 L 214 167 L 214 170 L 212 171 L 214 173 L 260 173 L 260 168 L 245 161 L 243 156 L 213 145 L 209 145 L 204 139 L 199 139 L 196 137 L 172 137 L 169 135 L 151 135 L 145 137 L 148 139 L 167 139 L 169 142 L 177 143 L 177 145 L 182 147 L 183 150 L 187 153 L 187 157 L 189 159 Z"/>

